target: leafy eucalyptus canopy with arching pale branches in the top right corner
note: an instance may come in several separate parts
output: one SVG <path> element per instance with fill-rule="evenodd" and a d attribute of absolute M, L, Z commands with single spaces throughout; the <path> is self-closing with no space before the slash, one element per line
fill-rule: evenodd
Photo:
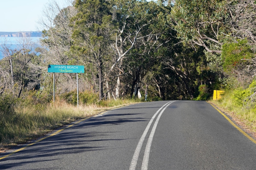
<path fill-rule="evenodd" d="M 183 41 L 221 53 L 223 43 L 237 39 L 255 44 L 255 10 L 254 0 L 176 0 L 169 21 Z"/>

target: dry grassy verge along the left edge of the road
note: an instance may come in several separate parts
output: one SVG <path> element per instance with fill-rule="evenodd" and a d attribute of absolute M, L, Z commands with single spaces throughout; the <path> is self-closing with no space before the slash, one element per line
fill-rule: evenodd
<path fill-rule="evenodd" d="M 14 107 L 4 105 L 0 111 L 0 152 L 14 145 L 25 143 L 68 124 L 121 106 L 137 103 L 134 100 L 102 101 L 98 105 L 73 106 L 65 101 L 33 105 L 19 103 Z"/>

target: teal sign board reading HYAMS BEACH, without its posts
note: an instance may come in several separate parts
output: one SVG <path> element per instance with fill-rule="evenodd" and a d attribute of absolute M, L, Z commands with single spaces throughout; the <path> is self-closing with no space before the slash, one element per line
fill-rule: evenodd
<path fill-rule="evenodd" d="M 48 72 L 51 72 L 51 73 L 84 73 L 84 66 L 48 65 Z"/>

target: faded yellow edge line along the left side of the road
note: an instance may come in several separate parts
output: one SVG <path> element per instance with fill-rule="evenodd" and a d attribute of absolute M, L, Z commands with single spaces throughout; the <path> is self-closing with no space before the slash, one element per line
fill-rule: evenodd
<path fill-rule="evenodd" d="M 89 119 L 89 117 L 84 118 L 84 119 L 81 119 L 81 120 L 75 122 L 74 124 L 70 124 L 70 125 L 68 125 L 67 127 L 62 128 L 62 129 L 59 129 L 59 130 L 57 130 L 56 132 L 54 132 L 54 133 L 52 133 L 52 134 L 50 134 L 50 135 L 48 135 L 48 136 L 46 136 L 46 137 L 43 137 L 43 138 L 41 138 L 41 139 L 39 139 L 39 140 L 36 140 L 36 141 L 33 142 L 33 143 L 30 143 L 30 144 L 28 144 L 28 145 L 26 145 L 26 146 L 24 146 L 24 147 L 22 147 L 22 148 L 19 148 L 19 149 L 13 151 L 13 152 L 11 152 L 11 153 L 9 153 L 9 154 L 7 154 L 7 155 L 1 157 L 0 160 L 1 160 L 1 159 L 4 159 L 4 158 L 7 158 L 8 156 L 11 156 L 11 155 L 13 155 L 13 154 L 15 154 L 15 153 L 17 153 L 17 152 L 23 150 L 23 149 L 26 149 L 26 148 L 28 148 L 29 146 L 34 145 L 34 144 L 36 144 L 36 143 L 38 143 L 38 142 L 40 142 L 40 141 L 42 141 L 42 140 L 45 140 L 45 139 L 48 138 L 48 137 L 57 135 L 59 132 L 65 130 L 65 129 L 69 128 L 69 127 L 72 127 L 72 126 L 74 126 L 75 124 L 78 124 L 78 123 L 80 123 L 80 122 L 82 122 L 82 121 L 85 121 L 86 119 Z"/>

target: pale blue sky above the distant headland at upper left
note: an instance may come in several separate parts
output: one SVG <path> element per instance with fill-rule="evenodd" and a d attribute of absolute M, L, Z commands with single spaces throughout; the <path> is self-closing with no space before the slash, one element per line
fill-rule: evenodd
<path fill-rule="evenodd" d="M 38 31 L 43 8 L 53 0 L 3 0 L 0 8 L 0 32 Z M 64 7 L 66 0 L 56 0 Z M 41 31 L 41 30 L 40 30 Z"/>

